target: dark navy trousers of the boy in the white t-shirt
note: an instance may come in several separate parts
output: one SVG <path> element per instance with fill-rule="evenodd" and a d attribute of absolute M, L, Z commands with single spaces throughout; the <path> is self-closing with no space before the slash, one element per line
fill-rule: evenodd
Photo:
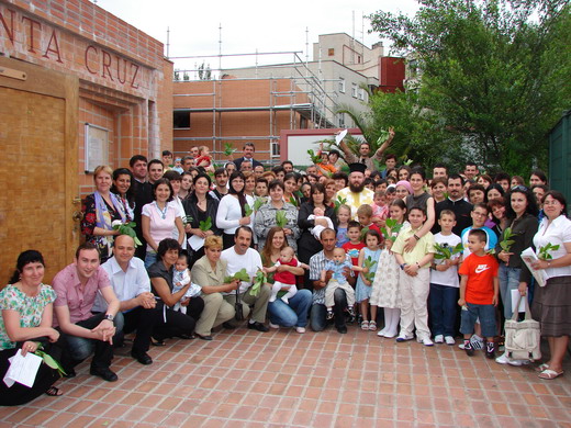
<path fill-rule="evenodd" d="M 430 322 L 435 336 L 455 336 L 454 327 L 458 308 L 458 289 L 456 286 L 430 284 L 428 296 Z"/>

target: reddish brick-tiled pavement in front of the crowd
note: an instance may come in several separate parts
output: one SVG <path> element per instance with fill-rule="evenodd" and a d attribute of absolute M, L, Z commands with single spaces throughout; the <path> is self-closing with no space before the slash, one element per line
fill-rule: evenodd
<path fill-rule="evenodd" d="M 349 327 L 219 331 L 170 340 L 153 365 L 115 357 L 119 382 L 78 376 L 63 397 L 0 408 L 0 427 L 571 427 L 571 364 L 541 381 L 458 347 Z"/>

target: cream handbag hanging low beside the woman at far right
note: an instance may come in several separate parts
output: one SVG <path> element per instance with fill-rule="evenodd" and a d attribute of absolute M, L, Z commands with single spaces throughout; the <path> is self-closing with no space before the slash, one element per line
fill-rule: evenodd
<path fill-rule="evenodd" d="M 531 318 L 529 303 L 525 299 L 525 318 L 517 320 L 519 313 L 514 311 L 512 319 L 505 320 L 505 351 L 507 357 L 515 360 L 539 360 L 540 351 L 540 327 L 539 322 Z M 517 299 L 514 307 L 519 307 L 522 295 Z"/>

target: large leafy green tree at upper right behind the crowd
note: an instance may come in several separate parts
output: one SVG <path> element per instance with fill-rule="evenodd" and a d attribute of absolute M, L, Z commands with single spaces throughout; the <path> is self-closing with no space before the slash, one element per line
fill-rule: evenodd
<path fill-rule="evenodd" d="M 372 29 L 422 69 L 418 109 L 484 166 L 547 166 L 547 133 L 571 104 L 568 0 L 424 0 Z M 455 139 L 455 138 L 452 138 Z"/>

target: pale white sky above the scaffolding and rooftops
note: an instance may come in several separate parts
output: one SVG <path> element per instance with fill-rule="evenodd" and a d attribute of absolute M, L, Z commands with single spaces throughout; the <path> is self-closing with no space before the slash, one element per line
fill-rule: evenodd
<path fill-rule="evenodd" d="M 293 61 L 291 52 L 309 59 L 320 34 L 347 33 L 371 47 L 380 41 L 369 34 L 370 22 L 363 15 L 379 10 L 413 15 L 415 0 L 286 0 L 282 3 L 260 0 L 97 0 L 100 8 L 167 44 L 169 57 L 288 52 L 282 55 L 223 57 L 222 68 Z M 355 20 L 354 20 L 355 16 Z M 222 30 L 220 30 L 222 26 Z M 389 46 L 383 41 L 384 46 Z M 165 48 L 166 49 L 166 48 Z M 165 52 L 165 54 L 167 54 Z M 385 50 L 385 54 L 388 52 Z M 203 61 L 219 68 L 220 58 L 173 59 L 177 69 L 194 69 Z"/>

